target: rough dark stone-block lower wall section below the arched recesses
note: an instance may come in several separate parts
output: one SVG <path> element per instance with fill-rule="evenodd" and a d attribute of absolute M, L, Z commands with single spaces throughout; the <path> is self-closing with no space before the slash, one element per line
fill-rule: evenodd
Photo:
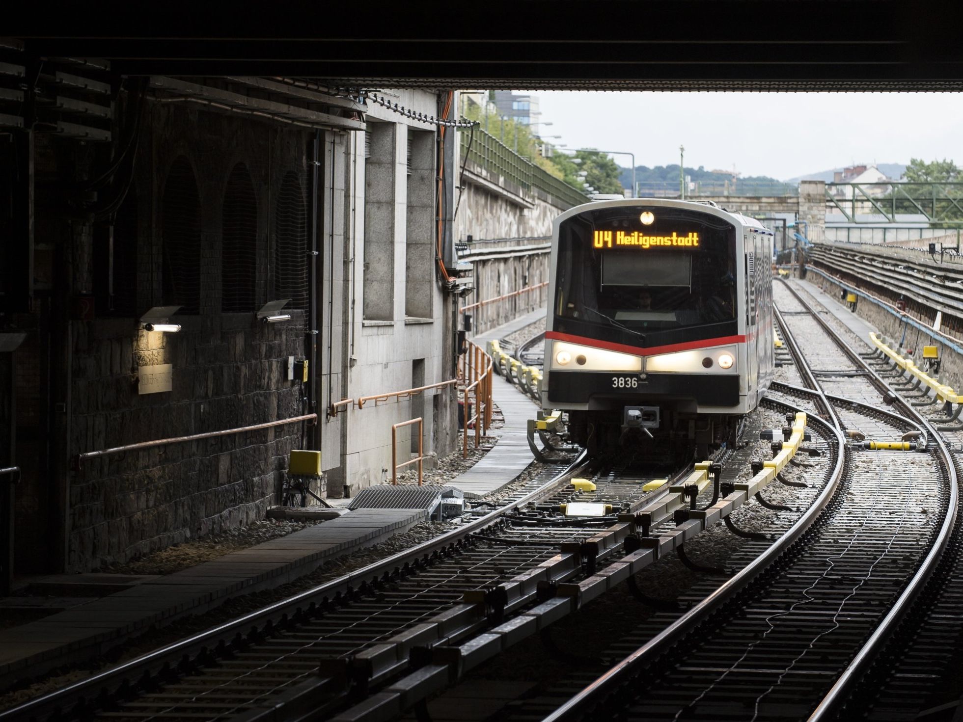
<path fill-rule="evenodd" d="M 303 312 L 296 312 L 302 316 Z M 225 314 L 178 320 L 176 334 L 132 320 L 73 324 L 76 451 L 253 425 L 302 413 L 290 326 Z M 169 393 L 139 395 L 140 366 L 173 366 Z M 68 567 L 88 569 L 263 519 L 300 425 L 93 459 L 70 484 Z"/>

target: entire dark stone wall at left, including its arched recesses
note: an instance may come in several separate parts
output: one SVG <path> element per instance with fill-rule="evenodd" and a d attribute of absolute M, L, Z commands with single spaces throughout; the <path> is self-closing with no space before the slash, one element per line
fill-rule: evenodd
<path fill-rule="evenodd" d="M 148 100 L 115 215 L 38 209 L 36 242 L 51 251 L 40 251 L 38 275 L 49 279 L 53 300 L 38 305 L 37 334 L 16 352 L 21 573 L 122 562 L 262 518 L 277 503 L 287 452 L 304 448 L 301 424 L 114 454 L 79 469 L 69 462 L 85 451 L 307 412 L 287 367 L 288 356 L 305 353 L 299 264 L 307 263 L 311 137 Z M 39 139 L 44 189 L 96 177 L 110 159 L 106 146 Z M 278 201 L 285 183 L 287 206 Z M 277 297 L 280 239 L 292 243 L 278 220 L 284 214 L 297 216 L 300 229 L 300 245 L 289 248 L 294 266 L 284 271 L 299 279 L 298 297 L 285 296 L 293 297 L 290 322 L 265 324 L 254 312 Z M 143 330 L 143 313 L 160 305 L 183 307 L 170 319 L 179 333 Z M 223 312 L 231 307 L 237 312 Z M 172 367 L 171 390 L 138 394 L 138 369 L 159 364 Z"/>

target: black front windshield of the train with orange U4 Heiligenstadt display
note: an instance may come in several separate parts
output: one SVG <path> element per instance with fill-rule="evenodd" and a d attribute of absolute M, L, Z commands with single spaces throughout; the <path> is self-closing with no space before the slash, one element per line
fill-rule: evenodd
<path fill-rule="evenodd" d="M 621 206 L 562 221 L 556 329 L 633 346 L 736 333 L 736 230 L 680 208 Z"/>

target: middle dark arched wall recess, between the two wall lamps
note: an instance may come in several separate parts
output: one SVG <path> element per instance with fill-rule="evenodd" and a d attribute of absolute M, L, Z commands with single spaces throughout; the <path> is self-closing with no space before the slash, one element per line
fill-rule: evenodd
<path fill-rule="evenodd" d="M 221 208 L 221 312 L 253 313 L 257 311 L 257 198 L 245 164 L 231 170 Z"/>

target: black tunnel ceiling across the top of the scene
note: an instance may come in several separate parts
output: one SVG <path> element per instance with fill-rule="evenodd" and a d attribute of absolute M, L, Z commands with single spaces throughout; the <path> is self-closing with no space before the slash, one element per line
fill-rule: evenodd
<path fill-rule="evenodd" d="M 144 13 L 103 2 L 91 14 L 77 4 L 40 29 L 8 32 L 31 57 L 105 58 L 129 75 L 354 88 L 963 90 L 963 9 L 935 0 L 225 7 L 174 2 Z"/>

